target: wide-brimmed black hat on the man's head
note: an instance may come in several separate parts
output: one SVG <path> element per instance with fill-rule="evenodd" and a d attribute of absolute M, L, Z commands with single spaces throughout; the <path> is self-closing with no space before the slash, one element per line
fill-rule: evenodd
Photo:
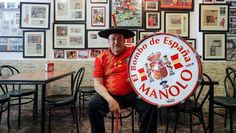
<path fill-rule="evenodd" d="M 102 30 L 102 31 L 98 32 L 98 35 L 100 37 L 108 39 L 109 35 L 114 34 L 114 33 L 122 34 L 124 36 L 124 38 L 131 38 L 131 37 L 135 36 L 134 32 L 132 32 L 131 30 L 121 29 L 121 28 Z"/>

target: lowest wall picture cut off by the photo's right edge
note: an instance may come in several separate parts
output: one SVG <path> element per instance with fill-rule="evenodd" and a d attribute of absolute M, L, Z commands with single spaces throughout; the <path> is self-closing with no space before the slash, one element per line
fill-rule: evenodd
<path fill-rule="evenodd" d="M 226 60 L 236 60 L 236 36 L 228 36 L 226 43 Z"/>

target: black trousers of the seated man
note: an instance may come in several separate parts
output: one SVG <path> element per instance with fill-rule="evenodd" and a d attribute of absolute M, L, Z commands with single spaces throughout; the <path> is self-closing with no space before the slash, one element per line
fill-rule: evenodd
<path fill-rule="evenodd" d="M 112 95 L 113 96 L 113 95 Z M 157 108 L 137 98 L 133 92 L 127 96 L 113 96 L 122 107 L 133 106 L 140 114 L 140 133 L 157 132 Z M 105 133 L 104 117 L 109 112 L 108 103 L 103 97 L 96 94 L 88 105 L 88 115 L 92 133 Z"/>

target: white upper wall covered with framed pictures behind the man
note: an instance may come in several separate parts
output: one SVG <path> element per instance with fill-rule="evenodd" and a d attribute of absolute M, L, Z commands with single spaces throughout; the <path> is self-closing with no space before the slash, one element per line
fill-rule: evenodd
<path fill-rule="evenodd" d="M 0 0 L 0 58 L 34 59 L 31 55 L 23 56 L 23 32 L 39 30 L 45 32 L 46 51 L 35 58 L 91 61 L 108 47 L 107 40 L 97 33 L 114 27 L 114 15 L 118 27 L 135 32 L 135 38 L 126 40 L 129 45 L 155 32 L 167 32 L 189 42 L 203 61 L 236 60 L 236 51 L 232 49 L 236 47 L 234 0 L 169 2 L 168 5 L 165 0 Z M 221 48 L 225 55 L 206 53 L 216 48 L 206 45 L 219 41 L 210 39 L 212 33 L 225 35 L 225 40 L 220 40 L 222 46 L 227 43 Z"/>

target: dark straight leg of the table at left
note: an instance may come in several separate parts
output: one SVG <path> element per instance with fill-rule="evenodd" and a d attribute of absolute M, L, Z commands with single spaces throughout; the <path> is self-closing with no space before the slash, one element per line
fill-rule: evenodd
<path fill-rule="evenodd" d="M 42 95 L 41 95 L 41 133 L 45 133 L 45 93 L 46 84 L 42 85 Z"/>

